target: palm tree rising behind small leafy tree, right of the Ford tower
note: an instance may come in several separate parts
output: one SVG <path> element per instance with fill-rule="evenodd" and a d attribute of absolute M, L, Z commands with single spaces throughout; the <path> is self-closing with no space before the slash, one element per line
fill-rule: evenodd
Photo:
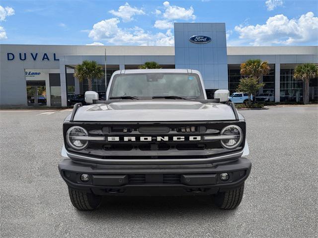
<path fill-rule="evenodd" d="M 256 60 L 246 60 L 246 62 L 240 64 L 240 75 L 243 75 L 245 78 L 254 78 L 259 83 L 259 79 L 262 75 L 266 75 L 269 73 L 270 67 L 267 61 L 262 61 L 259 59 Z M 250 80 L 251 81 L 251 80 Z M 264 87 L 265 84 L 262 84 Z M 255 92 L 256 93 L 256 92 Z M 253 95 L 253 102 L 255 102 L 255 96 Z M 248 101 L 250 101 L 250 95 L 248 97 Z"/>

